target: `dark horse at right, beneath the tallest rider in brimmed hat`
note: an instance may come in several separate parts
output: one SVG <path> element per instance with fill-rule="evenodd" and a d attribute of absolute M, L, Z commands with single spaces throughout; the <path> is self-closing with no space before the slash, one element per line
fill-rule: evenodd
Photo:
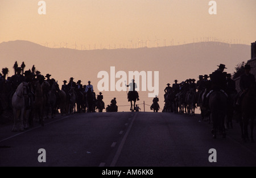
<path fill-rule="evenodd" d="M 213 91 L 208 97 L 210 113 L 212 114 L 213 120 L 213 138 L 216 138 L 217 130 L 221 131 L 222 138 L 225 138 L 226 131 L 224 122 L 227 109 L 227 96 L 224 92 Z"/>

